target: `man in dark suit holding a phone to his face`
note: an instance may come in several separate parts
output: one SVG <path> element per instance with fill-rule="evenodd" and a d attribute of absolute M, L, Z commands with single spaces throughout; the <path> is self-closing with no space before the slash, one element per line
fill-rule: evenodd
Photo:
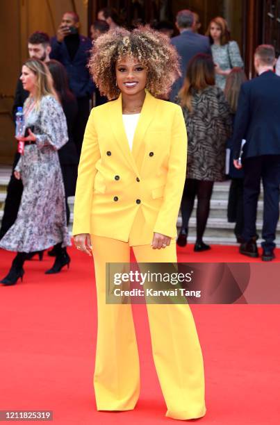
<path fill-rule="evenodd" d="M 78 115 L 74 126 L 74 142 L 80 155 L 83 133 L 90 115 L 90 97 L 94 83 L 88 72 L 88 60 L 92 42 L 90 38 L 79 35 L 80 19 L 75 12 L 63 15 L 56 37 L 51 39 L 51 59 L 59 60 L 69 78 L 69 87 L 78 102 Z"/>

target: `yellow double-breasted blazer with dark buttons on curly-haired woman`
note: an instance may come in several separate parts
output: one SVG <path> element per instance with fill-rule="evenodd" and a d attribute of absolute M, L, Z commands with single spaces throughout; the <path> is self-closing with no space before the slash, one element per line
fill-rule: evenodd
<path fill-rule="evenodd" d="M 153 232 L 174 238 L 186 178 L 187 133 L 180 106 L 146 91 L 129 148 L 122 95 L 93 108 L 85 128 L 74 203 L 73 235 L 150 244 Z"/>

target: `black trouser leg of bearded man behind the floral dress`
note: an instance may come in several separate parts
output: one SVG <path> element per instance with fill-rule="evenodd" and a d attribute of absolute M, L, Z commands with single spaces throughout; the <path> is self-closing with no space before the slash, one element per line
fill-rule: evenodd
<path fill-rule="evenodd" d="M 0 239 L 3 238 L 3 235 L 5 235 L 5 233 L 8 232 L 9 228 L 15 223 L 15 220 L 17 219 L 17 212 L 19 210 L 20 201 L 22 200 L 22 192 L 24 190 L 22 180 L 17 180 L 17 178 L 15 178 L 14 176 L 14 169 L 17 165 L 19 157 L 19 153 L 16 153 L 13 163 L 13 172 L 10 176 L 10 181 L 7 187 L 7 196 L 0 229 Z"/>

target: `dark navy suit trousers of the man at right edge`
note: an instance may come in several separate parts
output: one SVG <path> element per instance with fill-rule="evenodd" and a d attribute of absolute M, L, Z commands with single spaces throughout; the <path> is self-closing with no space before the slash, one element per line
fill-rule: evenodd
<path fill-rule="evenodd" d="M 244 230 L 249 242 L 256 235 L 256 213 L 261 178 L 263 180 L 263 248 L 274 249 L 279 219 L 280 155 L 263 155 L 244 160 Z"/>

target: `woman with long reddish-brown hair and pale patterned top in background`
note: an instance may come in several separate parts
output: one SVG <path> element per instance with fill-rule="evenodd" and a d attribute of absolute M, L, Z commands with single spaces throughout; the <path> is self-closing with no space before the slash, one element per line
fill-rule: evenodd
<path fill-rule="evenodd" d="M 206 35 L 210 38 L 213 61 L 215 63 L 215 82 L 224 90 L 227 76 L 233 67 L 243 67 L 239 47 L 230 40 L 226 19 L 217 16 L 211 20 Z"/>

